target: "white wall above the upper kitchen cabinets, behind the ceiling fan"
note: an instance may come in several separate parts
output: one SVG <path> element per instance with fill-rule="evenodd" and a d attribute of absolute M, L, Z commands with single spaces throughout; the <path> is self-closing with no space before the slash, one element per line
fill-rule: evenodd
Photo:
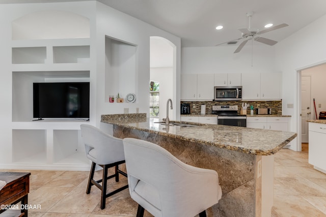
<path fill-rule="evenodd" d="M 275 72 L 275 48 L 251 43 L 239 53 L 236 46 L 185 47 L 181 49 L 182 74 Z M 253 54 L 253 56 L 252 56 Z"/>

